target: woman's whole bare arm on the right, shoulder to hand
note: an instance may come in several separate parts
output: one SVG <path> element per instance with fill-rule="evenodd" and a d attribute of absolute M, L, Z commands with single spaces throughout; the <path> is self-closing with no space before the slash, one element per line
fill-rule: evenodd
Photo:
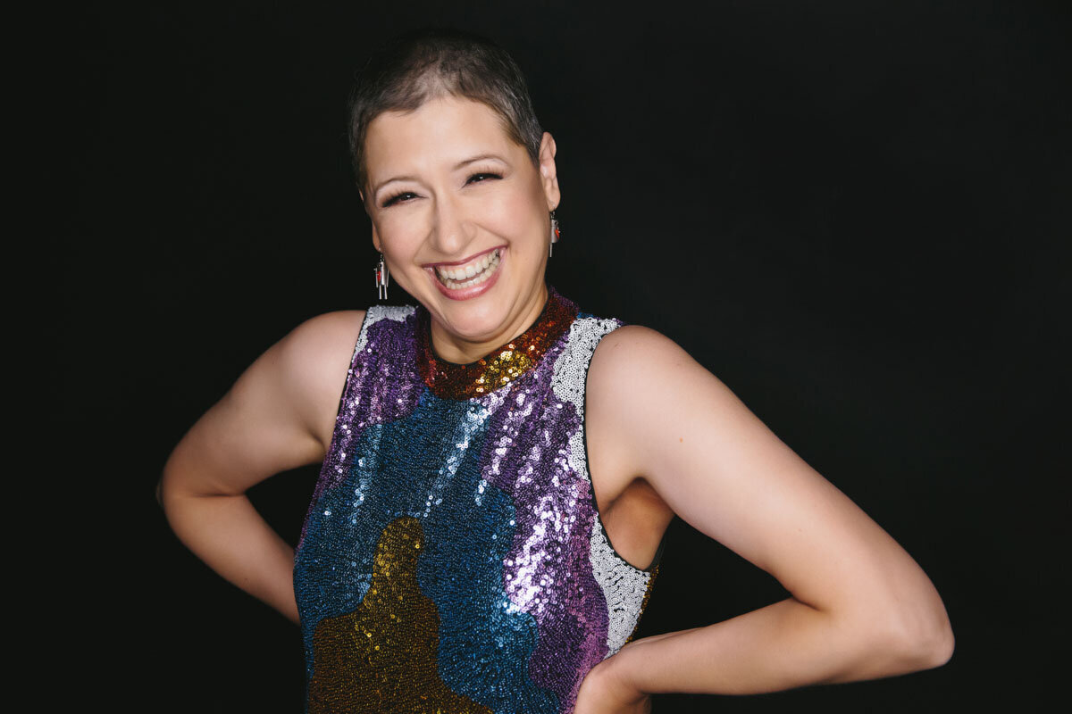
<path fill-rule="evenodd" d="M 631 642 L 585 679 L 578 714 L 630 711 L 646 694 L 775 692 L 950 658 L 952 628 L 926 574 L 721 381 L 645 328 L 604 343 L 589 376 L 590 419 L 607 420 L 600 430 L 675 514 L 792 596 Z"/>

